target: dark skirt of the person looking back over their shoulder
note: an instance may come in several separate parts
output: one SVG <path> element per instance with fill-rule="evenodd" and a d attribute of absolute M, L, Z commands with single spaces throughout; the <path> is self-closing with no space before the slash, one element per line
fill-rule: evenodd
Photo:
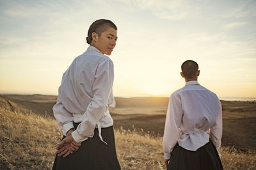
<path fill-rule="evenodd" d="M 78 124 L 74 124 L 75 128 Z M 116 157 L 115 136 L 113 126 L 102 128 L 101 136 L 108 145 L 100 141 L 98 129 L 95 128 L 93 138 L 88 138 L 76 152 L 70 153 L 67 157 L 58 157 L 54 160 L 52 169 L 120 169 Z M 64 139 L 63 136 L 62 139 Z M 61 139 L 61 140 L 62 140 Z"/>

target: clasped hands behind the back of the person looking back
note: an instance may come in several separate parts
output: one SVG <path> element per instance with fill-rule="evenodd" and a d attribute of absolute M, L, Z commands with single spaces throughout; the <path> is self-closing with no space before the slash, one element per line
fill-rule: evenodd
<path fill-rule="evenodd" d="M 76 152 L 78 148 L 81 146 L 81 143 L 77 143 L 71 133 L 74 130 L 70 129 L 70 131 L 67 132 L 67 137 L 64 138 L 61 143 L 58 143 L 58 146 L 56 147 L 58 154 L 58 157 L 63 155 L 63 157 L 67 157 L 70 153 Z"/>

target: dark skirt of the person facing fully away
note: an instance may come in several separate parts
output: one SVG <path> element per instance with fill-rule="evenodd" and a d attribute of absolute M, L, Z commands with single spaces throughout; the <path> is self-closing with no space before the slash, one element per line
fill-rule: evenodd
<path fill-rule="evenodd" d="M 221 170 L 223 169 L 216 147 L 210 141 L 196 151 L 178 145 L 171 153 L 168 170 Z"/>

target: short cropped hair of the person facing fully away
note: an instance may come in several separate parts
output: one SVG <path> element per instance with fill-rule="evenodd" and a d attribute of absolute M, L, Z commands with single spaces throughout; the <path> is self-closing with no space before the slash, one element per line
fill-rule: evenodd
<path fill-rule="evenodd" d="M 185 78 L 196 78 L 198 64 L 193 60 L 186 60 L 181 65 L 181 71 Z"/>

